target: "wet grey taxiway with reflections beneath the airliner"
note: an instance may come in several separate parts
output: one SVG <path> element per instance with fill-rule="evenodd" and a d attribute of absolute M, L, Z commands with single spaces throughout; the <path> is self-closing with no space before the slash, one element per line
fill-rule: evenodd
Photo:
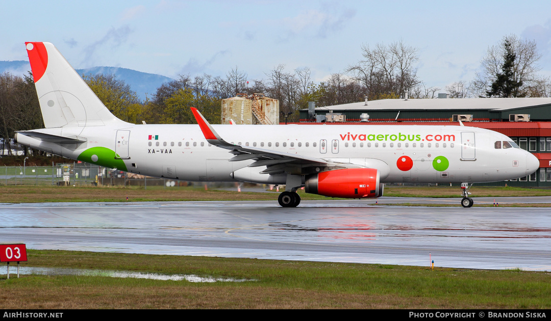
<path fill-rule="evenodd" d="M 430 253 L 435 266 L 551 271 L 549 208 L 377 202 L 303 201 L 298 208 L 276 202 L 0 204 L 0 239 L 34 249 L 422 266 Z"/>

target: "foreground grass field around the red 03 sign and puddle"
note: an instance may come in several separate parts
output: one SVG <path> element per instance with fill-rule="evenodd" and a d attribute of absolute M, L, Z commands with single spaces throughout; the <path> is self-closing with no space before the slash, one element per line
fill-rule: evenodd
<path fill-rule="evenodd" d="M 27 266 L 247 279 L 192 283 L 101 276 L 0 279 L 2 308 L 548 309 L 550 273 L 29 250 Z"/>

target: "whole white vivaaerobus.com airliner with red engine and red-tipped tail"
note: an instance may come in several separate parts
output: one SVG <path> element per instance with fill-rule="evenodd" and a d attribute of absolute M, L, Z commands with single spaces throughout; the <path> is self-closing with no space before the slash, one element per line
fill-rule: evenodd
<path fill-rule="evenodd" d="M 392 182 L 468 184 L 527 176 L 535 156 L 512 139 L 464 126 L 131 124 L 112 115 L 52 43 L 26 42 L 45 128 L 15 134 L 19 144 L 90 164 L 183 181 L 285 184 L 296 190 L 376 198 Z"/>

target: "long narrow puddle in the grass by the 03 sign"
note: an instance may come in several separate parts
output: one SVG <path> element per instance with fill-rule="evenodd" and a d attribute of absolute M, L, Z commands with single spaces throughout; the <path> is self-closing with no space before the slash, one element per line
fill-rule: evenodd
<path fill-rule="evenodd" d="M 2 271 L 3 270 L 3 271 Z M 6 275 L 7 269 L 0 269 L 0 274 Z M 17 278 L 17 266 L 9 267 L 10 278 Z M 83 270 L 83 269 L 68 269 L 68 268 L 37 268 L 33 266 L 20 266 L 19 274 L 38 274 L 38 275 L 83 275 L 83 276 L 109 276 L 111 278 L 135 278 L 135 279 L 150 279 L 164 281 L 182 281 L 188 282 L 246 282 L 256 280 L 233 279 L 233 278 L 213 278 L 212 276 L 204 277 L 197 275 L 185 274 L 157 274 L 157 273 L 139 273 L 125 271 L 104 271 L 104 270 Z"/>

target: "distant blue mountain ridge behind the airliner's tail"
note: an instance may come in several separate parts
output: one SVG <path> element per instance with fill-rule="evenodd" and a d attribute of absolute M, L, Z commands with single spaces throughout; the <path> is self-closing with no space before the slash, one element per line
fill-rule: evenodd
<path fill-rule="evenodd" d="M 24 75 L 31 66 L 26 60 L 0 61 L 0 73 L 9 72 L 14 75 Z M 139 99 L 145 100 L 145 94 L 151 98 L 156 93 L 157 88 L 163 83 L 174 79 L 158 74 L 148 74 L 138 72 L 137 70 L 120 67 L 92 67 L 87 69 L 77 69 L 80 75 L 85 74 L 114 74 L 117 79 L 124 80 L 130 85 L 133 91 L 136 91 Z"/>

